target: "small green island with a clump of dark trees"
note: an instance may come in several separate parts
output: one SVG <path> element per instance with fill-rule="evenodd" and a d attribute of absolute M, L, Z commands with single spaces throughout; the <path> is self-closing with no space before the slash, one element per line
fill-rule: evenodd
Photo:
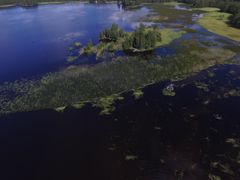
<path fill-rule="evenodd" d="M 169 28 L 160 29 L 157 26 L 146 27 L 143 24 L 140 24 L 134 32 L 124 32 L 117 24 L 113 24 L 111 28 L 100 33 L 99 44 L 94 46 L 90 40 L 85 47 L 81 48 L 80 54 L 100 56 L 105 51 L 152 51 L 160 46 L 170 44 L 184 33 L 184 31 L 175 31 Z"/>

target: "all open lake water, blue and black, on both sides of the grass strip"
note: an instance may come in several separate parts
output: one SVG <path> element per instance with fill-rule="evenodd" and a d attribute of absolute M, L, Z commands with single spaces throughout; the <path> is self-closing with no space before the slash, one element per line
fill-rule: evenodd
<path fill-rule="evenodd" d="M 96 43 L 113 22 L 133 30 L 147 13 L 146 8 L 123 11 L 116 4 L 81 3 L 0 10 L 0 82 L 64 68 L 74 42 L 91 38 Z M 235 43 L 199 25 L 187 27 L 201 33 L 187 33 L 156 53 L 172 53 L 172 46 L 192 38 Z M 169 82 L 145 87 L 138 100 L 124 93 L 109 116 L 100 116 L 90 104 L 64 113 L 2 116 L 0 179 L 203 180 L 212 173 L 240 179 L 239 66 L 217 65 L 174 83 L 174 97 L 162 94 Z"/>

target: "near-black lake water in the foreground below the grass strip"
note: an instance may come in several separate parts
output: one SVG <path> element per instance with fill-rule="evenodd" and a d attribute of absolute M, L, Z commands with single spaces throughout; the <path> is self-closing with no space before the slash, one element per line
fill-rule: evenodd
<path fill-rule="evenodd" d="M 4 116 L 0 178 L 203 180 L 215 173 L 239 179 L 240 97 L 226 97 L 240 86 L 239 72 L 236 66 L 210 68 L 178 82 L 175 97 L 162 95 L 168 82 L 144 88 L 139 100 L 125 93 L 109 116 L 90 105 Z"/>

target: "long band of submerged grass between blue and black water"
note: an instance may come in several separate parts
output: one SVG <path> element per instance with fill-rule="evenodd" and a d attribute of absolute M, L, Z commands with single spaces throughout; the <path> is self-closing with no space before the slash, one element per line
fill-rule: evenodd
<path fill-rule="evenodd" d="M 95 66 L 71 66 L 46 75 L 40 82 L 27 85 L 28 88 L 17 96 L 4 96 L 4 100 L 0 101 L 0 113 L 45 108 L 62 111 L 65 106 L 81 108 L 81 102 L 91 101 L 95 107 L 102 109 L 101 114 L 109 114 L 114 110 L 115 100 L 121 100 L 120 94 L 124 91 L 162 80 L 184 78 L 215 64 L 225 63 L 226 59 L 235 55 L 227 49 L 192 50 L 193 42 L 189 46 L 187 42 L 184 44 L 180 47 L 185 48 L 185 53 L 181 51 L 174 57 L 155 58 L 154 63 L 141 57 L 119 57 Z M 8 92 L 13 94 L 22 89 L 21 86 L 19 90 L 11 88 L 15 87 L 14 83 L 9 83 L 8 87 Z M 142 92 L 136 91 L 135 95 L 140 97 Z"/>

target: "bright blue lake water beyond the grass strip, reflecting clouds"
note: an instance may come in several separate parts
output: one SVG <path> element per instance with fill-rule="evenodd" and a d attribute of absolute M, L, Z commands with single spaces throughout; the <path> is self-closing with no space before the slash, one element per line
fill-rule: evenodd
<path fill-rule="evenodd" d="M 146 13 L 146 8 L 124 12 L 117 4 L 82 3 L 0 10 L 0 82 L 56 71 L 66 65 L 74 42 L 96 43 L 112 23 L 132 30 Z"/>

